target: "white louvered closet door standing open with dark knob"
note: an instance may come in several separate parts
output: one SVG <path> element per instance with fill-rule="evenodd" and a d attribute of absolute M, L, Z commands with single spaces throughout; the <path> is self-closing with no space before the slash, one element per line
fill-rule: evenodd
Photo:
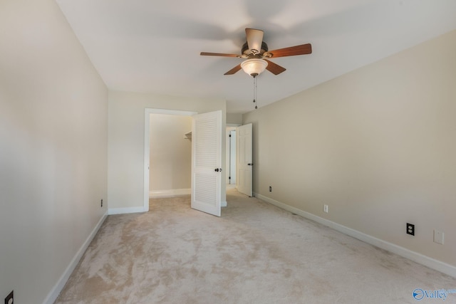
<path fill-rule="evenodd" d="M 194 115 L 192 208 L 220 216 L 222 198 L 222 111 Z"/>

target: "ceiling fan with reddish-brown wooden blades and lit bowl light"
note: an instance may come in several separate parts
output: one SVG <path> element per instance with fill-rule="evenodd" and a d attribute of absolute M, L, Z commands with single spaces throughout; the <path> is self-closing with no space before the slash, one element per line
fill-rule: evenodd
<path fill-rule="evenodd" d="M 243 69 L 252 77 L 257 77 L 265 69 L 274 75 L 279 75 L 286 68 L 269 61 L 269 58 L 279 58 L 285 56 L 306 55 L 312 53 L 310 43 L 301 44 L 300 46 L 290 46 L 288 48 L 279 48 L 278 50 L 269 51 L 268 45 L 263 41 L 263 31 L 254 28 L 246 28 L 245 34 L 247 42 L 242 46 L 241 54 L 224 54 L 224 53 L 207 53 L 201 52 L 202 56 L 222 56 L 222 57 L 237 57 L 247 59 L 239 65 L 229 70 L 224 75 L 233 75 L 237 71 Z"/>

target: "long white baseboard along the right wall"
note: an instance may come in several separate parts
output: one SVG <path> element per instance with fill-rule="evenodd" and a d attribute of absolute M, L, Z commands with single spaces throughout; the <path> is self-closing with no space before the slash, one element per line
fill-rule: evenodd
<path fill-rule="evenodd" d="M 366 243 L 370 243 L 373 246 L 377 246 L 386 251 L 390 251 L 392 253 L 397 254 L 398 256 L 403 256 L 404 258 L 408 258 L 411 261 L 420 263 L 424 266 L 427 266 L 429 268 L 435 269 L 436 271 L 440 271 L 441 273 L 445 273 L 448 276 L 453 276 L 456 278 L 456 267 L 455 266 L 444 263 L 442 261 L 438 261 L 435 258 L 430 258 L 429 256 L 425 256 L 421 253 L 411 251 L 407 248 L 403 248 L 403 247 L 395 245 L 393 243 L 389 243 L 388 241 L 383 241 L 381 239 L 377 239 L 373 236 L 369 236 L 368 234 L 363 234 L 362 232 L 357 231 L 355 229 L 351 229 L 351 228 L 348 228 L 341 224 L 337 224 L 333 221 L 329 221 L 328 219 L 323 219 L 320 216 L 316 216 L 314 214 L 303 211 L 301 209 L 297 209 L 293 206 L 289 206 L 287 204 L 281 203 L 280 201 L 276 201 L 275 199 L 270 199 L 267 196 L 263 196 L 263 195 L 257 194 L 257 193 L 255 193 L 254 196 L 256 196 L 258 199 L 261 199 L 262 201 L 266 201 L 270 204 L 278 206 L 281 209 L 285 209 L 286 211 L 293 212 L 294 214 L 299 214 L 300 216 L 303 216 L 306 219 L 311 219 L 312 221 L 316 221 L 317 223 L 331 227 L 332 229 L 339 231 L 343 234 L 346 234 L 348 236 L 352 236 L 355 239 L 364 241 Z"/>

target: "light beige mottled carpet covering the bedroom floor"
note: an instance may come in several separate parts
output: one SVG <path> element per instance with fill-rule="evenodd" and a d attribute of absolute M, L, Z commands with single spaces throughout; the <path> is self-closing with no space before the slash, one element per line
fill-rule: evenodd
<path fill-rule="evenodd" d="M 190 196 L 108 216 L 56 303 L 416 303 L 415 288 L 456 289 L 456 278 L 234 189 L 227 201 L 221 218 L 190 209 Z"/>

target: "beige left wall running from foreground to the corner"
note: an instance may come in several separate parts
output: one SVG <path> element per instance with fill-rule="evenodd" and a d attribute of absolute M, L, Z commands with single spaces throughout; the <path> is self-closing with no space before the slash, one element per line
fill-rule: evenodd
<path fill-rule="evenodd" d="M 0 299 L 43 303 L 107 211 L 108 90 L 55 1 L 0 28 Z"/>

